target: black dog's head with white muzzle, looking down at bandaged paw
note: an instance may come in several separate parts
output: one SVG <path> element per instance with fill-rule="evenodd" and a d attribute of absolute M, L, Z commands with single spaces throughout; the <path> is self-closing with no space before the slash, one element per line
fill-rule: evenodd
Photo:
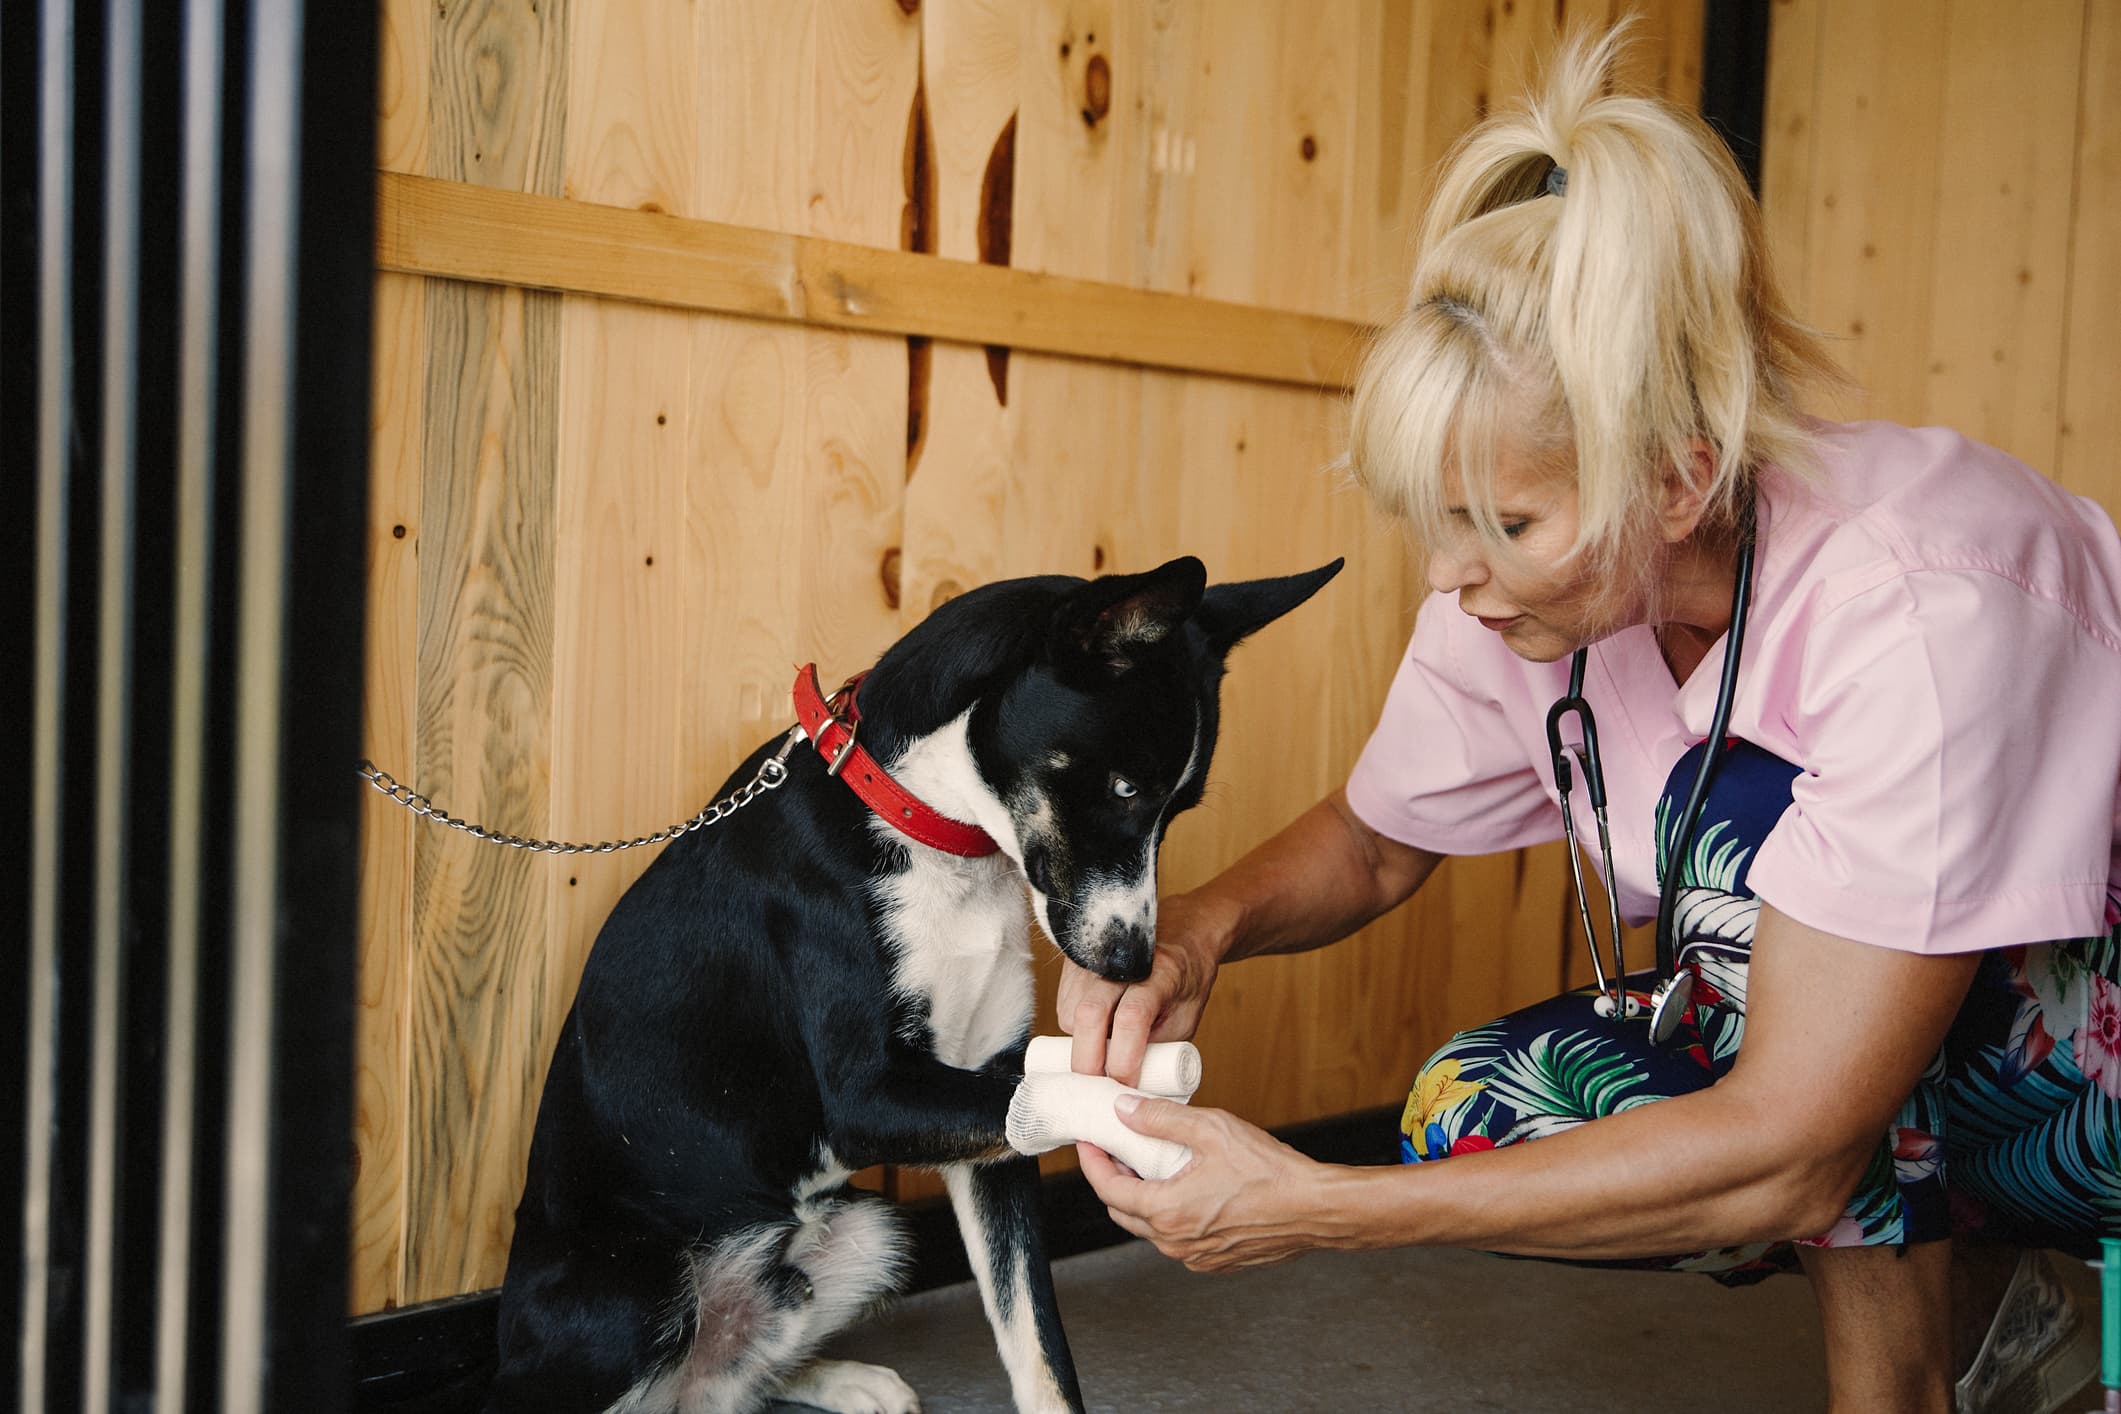
<path fill-rule="evenodd" d="M 974 712 L 974 759 L 1007 810 L 1033 907 L 1080 967 L 1150 975 L 1156 852 L 1171 816 L 1200 801 L 1224 657 L 1338 570 L 1207 585 L 1184 558 L 1082 581 L 1052 606 L 1035 664 Z"/>

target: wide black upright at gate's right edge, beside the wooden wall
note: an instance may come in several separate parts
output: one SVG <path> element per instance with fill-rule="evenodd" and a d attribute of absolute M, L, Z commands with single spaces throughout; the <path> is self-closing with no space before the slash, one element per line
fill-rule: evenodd
<path fill-rule="evenodd" d="M 301 229 L 286 579 L 288 733 L 280 909 L 286 1085 L 276 1134 L 274 1372 L 267 1408 L 337 1410 L 348 1397 L 354 982 L 361 895 L 363 628 L 369 515 L 369 324 L 375 286 L 375 15 L 308 6 Z M 318 939 L 329 939 L 318 948 Z"/>

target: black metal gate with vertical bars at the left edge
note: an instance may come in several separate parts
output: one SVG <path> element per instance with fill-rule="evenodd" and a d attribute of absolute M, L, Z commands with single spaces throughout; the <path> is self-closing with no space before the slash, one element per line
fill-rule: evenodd
<path fill-rule="evenodd" d="M 346 1401 L 373 76 L 363 4 L 0 11 L 25 1412 Z"/>

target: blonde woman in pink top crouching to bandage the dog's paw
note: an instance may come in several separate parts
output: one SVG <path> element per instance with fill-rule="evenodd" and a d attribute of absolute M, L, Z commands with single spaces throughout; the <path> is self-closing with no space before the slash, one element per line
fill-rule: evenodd
<path fill-rule="evenodd" d="M 1614 42 L 1459 146 L 1362 373 L 1353 466 L 1434 594 L 1347 789 L 1167 899 L 1147 982 L 1067 975 L 1060 1015 L 1080 1071 L 1130 1079 L 1220 965 L 1563 835 L 1546 721 L 1578 651 L 1612 859 L 1580 778 L 1576 837 L 1631 918 L 1671 895 L 1690 1005 L 1665 1045 L 1589 992 L 1453 1039 L 1396 1170 L 1154 1100 L 1128 1124 L 1188 1170 L 1084 1168 L 1200 1270 L 1387 1244 L 1801 1263 L 1837 1410 L 2053 1410 L 2096 1342 L 2017 1249 L 2121 1227 L 2121 541 L 1953 432 L 1801 416 L 1833 369 L 1754 201 L 1697 119 L 1606 95 Z"/>

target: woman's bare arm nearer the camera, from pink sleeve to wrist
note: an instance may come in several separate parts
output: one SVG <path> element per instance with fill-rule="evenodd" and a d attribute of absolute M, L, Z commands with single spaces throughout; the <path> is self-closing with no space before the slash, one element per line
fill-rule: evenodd
<path fill-rule="evenodd" d="M 1321 1210 L 1385 1242 L 1527 1257 L 1818 1236 L 1943 1045 L 1979 960 L 1854 943 L 1765 905 L 1746 1045 L 1722 1081 L 1485 1153 L 1336 1170 Z"/>

